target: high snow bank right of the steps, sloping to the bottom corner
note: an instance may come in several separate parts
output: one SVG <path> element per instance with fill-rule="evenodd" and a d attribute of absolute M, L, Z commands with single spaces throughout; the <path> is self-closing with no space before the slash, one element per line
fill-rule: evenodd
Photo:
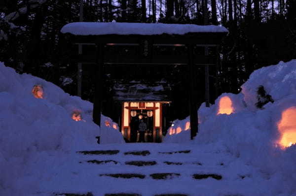
<path fill-rule="evenodd" d="M 274 100 L 262 109 L 256 107 L 259 86 Z M 230 98 L 233 111 L 219 114 L 220 100 L 225 96 Z M 222 94 L 215 102 L 209 108 L 203 103 L 198 110 L 199 132 L 193 140 L 196 147 L 213 145 L 254 166 L 264 179 L 270 180 L 272 195 L 296 194 L 296 145 L 284 149 L 280 145 L 284 134 L 279 130 L 283 112 L 296 109 L 296 60 L 254 71 L 240 94 Z M 282 129 L 296 134 L 296 116 L 291 114 L 283 120 Z M 178 126 L 187 120 L 178 121 Z M 189 131 L 167 134 L 164 142 L 189 141 L 189 136 Z"/>

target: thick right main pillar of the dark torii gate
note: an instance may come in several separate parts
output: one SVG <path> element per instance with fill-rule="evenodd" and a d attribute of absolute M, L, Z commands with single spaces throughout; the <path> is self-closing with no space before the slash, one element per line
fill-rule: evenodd
<path fill-rule="evenodd" d="M 190 112 L 190 138 L 193 139 L 198 131 L 198 115 L 195 93 L 195 77 L 193 69 L 193 44 L 188 45 L 188 76 L 189 76 L 189 112 Z"/>

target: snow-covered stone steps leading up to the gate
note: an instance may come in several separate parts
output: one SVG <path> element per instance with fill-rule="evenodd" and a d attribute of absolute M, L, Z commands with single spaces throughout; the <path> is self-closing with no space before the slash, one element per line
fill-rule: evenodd
<path fill-rule="evenodd" d="M 75 151 L 44 184 L 53 196 L 243 196 L 251 166 L 194 145 L 129 143 Z M 61 173 L 59 173 L 62 171 Z"/>

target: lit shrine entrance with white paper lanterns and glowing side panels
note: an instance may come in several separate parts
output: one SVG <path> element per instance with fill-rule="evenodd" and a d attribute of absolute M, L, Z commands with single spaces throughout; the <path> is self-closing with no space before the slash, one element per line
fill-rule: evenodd
<path fill-rule="evenodd" d="M 162 140 L 162 104 L 168 101 L 153 102 L 123 102 L 121 133 L 129 142 L 139 141 L 139 123 L 147 125 L 146 142 L 161 142 Z"/>

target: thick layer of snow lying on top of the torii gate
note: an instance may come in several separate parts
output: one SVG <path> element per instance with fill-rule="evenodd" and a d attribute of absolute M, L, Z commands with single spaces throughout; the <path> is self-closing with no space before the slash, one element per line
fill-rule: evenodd
<path fill-rule="evenodd" d="M 224 27 L 215 25 L 180 25 L 162 23 L 94 23 L 77 22 L 65 25 L 62 33 L 74 35 L 104 35 L 104 34 L 185 34 L 185 33 L 227 33 Z"/>

